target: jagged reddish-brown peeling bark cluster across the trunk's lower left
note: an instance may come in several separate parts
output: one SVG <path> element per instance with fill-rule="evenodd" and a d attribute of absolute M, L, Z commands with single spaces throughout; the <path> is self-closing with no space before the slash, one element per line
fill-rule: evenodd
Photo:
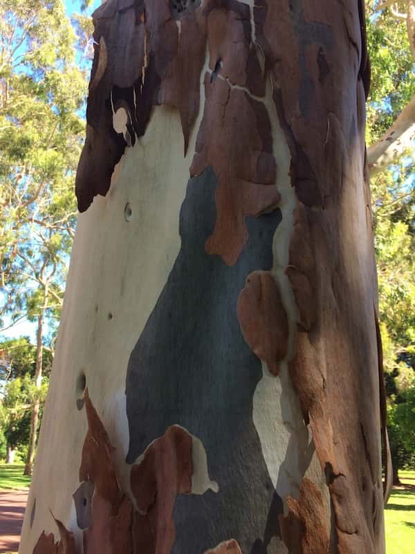
<path fill-rule="evenodd" d="M 84 530 L 84 554 L 169 554 L 174 543 L 176 495 L 192 492 L 192 437 L 174 425 L 152 443 L 131 468 L 131 491 L 122 495 L 113 466 L 114 448 L 85 391 L 88 432 L 82 450 L 80 480 L 93 482 L 91 521 Z M 82 488 L 78 489 L 82 492 Z M 75 503 L 77 521 L 86 503 Z M 89 509 L 89 508 L 88 508 Z M 55 519 L 60 540 L 42 533 L 33 554 L 77 554 L 73 533 Z M 232 552 L 233 554 L 233 552 Z"/>

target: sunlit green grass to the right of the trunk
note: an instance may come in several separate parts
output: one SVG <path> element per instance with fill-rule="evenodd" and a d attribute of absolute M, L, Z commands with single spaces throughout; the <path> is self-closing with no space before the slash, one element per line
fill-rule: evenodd
<path fill-rule="evenodd" d="M 386 554 L 415 551 L 415 471 L 400 471 L 385 510 Z"/>

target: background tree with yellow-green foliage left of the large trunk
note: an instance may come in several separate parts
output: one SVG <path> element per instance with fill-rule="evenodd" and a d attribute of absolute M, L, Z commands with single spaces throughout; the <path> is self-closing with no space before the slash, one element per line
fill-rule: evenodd
<path fill-rule="evenodd" d="M 6 0 L 0 7 L 0 316 L 37 326 L 34 382 L 62 306 L 76 221 L 73 180 L 84 122 L 86 64 L 61 0 Z M 49 337 L 50 339 L 50 337 Z M 39 424 L 33 395 L 25 473 Z"/>

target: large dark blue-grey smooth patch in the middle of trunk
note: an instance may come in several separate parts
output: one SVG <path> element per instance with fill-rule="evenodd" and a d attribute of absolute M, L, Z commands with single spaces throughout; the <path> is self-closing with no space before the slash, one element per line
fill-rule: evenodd
<path fill-rule="evenodd" d="M 131 352 L 127 463 L 169 425 L 182 425 L 203 443 L 219 492 L 177 497 L 172 554 L 203 553 L 229 537 L 244 554 L 264 554 L 279 535 L 282 500 L 252 418 L 261 361 L 243 339 L 236 306 L 247 275 L 271 269 L 282 215 L 246 217 L 248 243 L 237 264 L 227 266 L 205 253 L 216 221 L 216 184 L 212 168 L 190 179 L 180 214 L 181 250 Z"/>

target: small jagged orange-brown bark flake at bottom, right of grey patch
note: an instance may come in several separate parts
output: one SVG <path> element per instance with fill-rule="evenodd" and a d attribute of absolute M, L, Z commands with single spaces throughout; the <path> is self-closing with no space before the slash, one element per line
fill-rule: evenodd
<path fill-rule="evenodd" d="M 282 539 L 289 554 L 327 554 L 329 533 L 320 490 L 304 477 L 298 501 L 288 497 L 288 515 L 279 517 Z"/>

